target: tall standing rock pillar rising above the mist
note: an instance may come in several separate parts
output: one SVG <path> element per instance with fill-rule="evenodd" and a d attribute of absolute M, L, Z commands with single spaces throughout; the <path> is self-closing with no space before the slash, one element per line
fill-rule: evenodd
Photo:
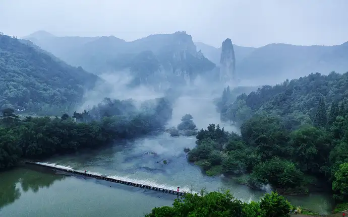
<path fill-rule="evenodd" d="M 219 80 L 233 86 L 237 84 L 235 50 L 229 38 L 222 42 Z"/>

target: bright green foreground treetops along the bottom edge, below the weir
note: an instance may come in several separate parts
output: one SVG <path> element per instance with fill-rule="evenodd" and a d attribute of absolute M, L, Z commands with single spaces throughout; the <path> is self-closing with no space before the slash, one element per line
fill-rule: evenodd
<path fill-rule="evenodd" d="M 290 208 L 291 204 L 274 192 L 265 194 L 260 202 L 243 203 L 229 191 L 206 193 L 202 190 L 201 195 L 186 194 L 175 199 L 172 207 L 153 208 L 145 217 L 281 217 L 288 216 Z"/>

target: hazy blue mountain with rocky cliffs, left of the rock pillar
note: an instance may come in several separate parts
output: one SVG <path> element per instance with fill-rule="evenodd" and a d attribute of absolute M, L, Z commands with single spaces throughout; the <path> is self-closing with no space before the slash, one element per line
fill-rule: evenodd
<path fill-rule="evenodd" d="M 190 84 L 215 64 L 205 58 L 186 32 L 157 34 L 127 42 L 114 36 L 56 37 L 36 32 L 26 37 L 69 64 L 94 74 L 130 70 L 133 85 Z M 160 84 L 159 84 L 160 82 Z"/>

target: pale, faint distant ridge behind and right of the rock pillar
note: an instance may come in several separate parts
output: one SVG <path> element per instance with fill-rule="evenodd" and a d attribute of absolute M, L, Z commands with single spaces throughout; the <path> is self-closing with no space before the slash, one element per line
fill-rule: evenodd
<path fill-rule="evenodd" d="M 197 42 L 208 59 L 217 63 L 221 50 Z M 348 42 L 335 46 L 268 44 L 259 48 L 234 45 L 238 79 L 257 85 L 275 84 L 310 73 L 328 75 L 348 71 Z"/>

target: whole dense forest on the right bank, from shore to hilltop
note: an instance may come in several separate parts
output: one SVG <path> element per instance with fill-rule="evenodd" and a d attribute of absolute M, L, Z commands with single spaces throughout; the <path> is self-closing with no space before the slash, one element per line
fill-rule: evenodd
<path fill-rule="evenodd" d="M 197 135 L 190 161 L 208 175 L 240 175 L 254 188 L 270 184 L 283 194 L 331 190 L 348 200 L 348 73 L 311 74 L 264 86 L 231 104 L 221 117 L 241 124 L 241 134 L 209 125 Z M 247 175 L 245 175 L 247 174 Z"/>

